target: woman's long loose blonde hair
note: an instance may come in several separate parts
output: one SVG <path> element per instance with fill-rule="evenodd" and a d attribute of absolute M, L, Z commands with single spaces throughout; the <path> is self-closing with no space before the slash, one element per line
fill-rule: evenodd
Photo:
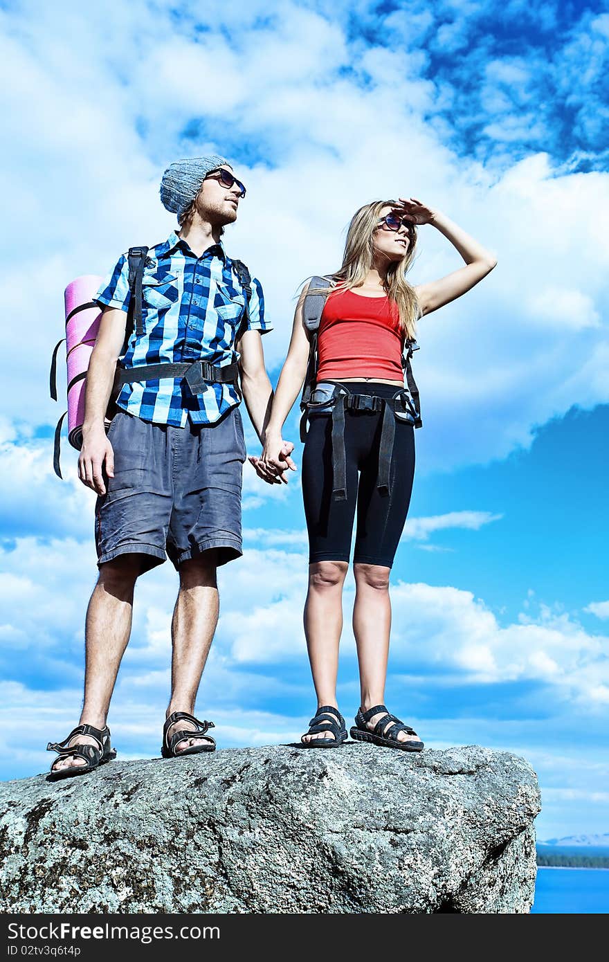
<path fill-rule="evenodd" d="M 351 217 L 344 243 L 343 265 L 332 274 L 325 274 L 331 285 L 327 288 L 310 288 L 311 293 L 330 291 L 351 291 L 359 288 L 368 277 L 374 261 L 373 235 L 379 226 L 381 211 L 385 207 L 398 207 L 395 200 L 374 200 L 360 207 Z M 413 263 L 417 247 L 417 228 L 413 225 L 408 232 L 410 243 L 406 256 L 393 261 L 387 268 L 383 287 L 391 301 L 397 306 L 400 326 L 407 339 L 416 336 L 419 317 L 419 299 L 413 286 L 406 280 L 406 274 Z"/>

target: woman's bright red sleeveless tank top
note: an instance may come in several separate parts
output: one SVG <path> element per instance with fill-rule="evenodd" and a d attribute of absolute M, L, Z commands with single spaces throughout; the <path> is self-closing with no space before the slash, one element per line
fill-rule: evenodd
<path fill-rule="evenodd" d="M 389 297 L 330 291 L 319 321 L 317 381 L 330 377 L 403 379 L 404 336 Z"/>

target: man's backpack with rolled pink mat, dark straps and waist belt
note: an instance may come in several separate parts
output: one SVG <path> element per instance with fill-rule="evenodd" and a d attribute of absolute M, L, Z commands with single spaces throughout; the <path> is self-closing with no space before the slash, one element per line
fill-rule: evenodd
<path fill-rule="evenodd" d="M 125 368 L 121 362 L 127 352 L 131 336 L 136 331 L 136 337 L 144 334 L 141 310 L 141 279 L 146 264 L 148 247 L 130 247 L 128 252 L 129 275 L 128 285 L 131 291 L 129 308 L 125 320 L 125 339 L 116 364 L 113 391 L 106 411 L 106 429 L 116 413 L 115 400 L 123 384 L 133 381 L 144 381 L 159 377 L 185 377 L 193 393 L 205 389 L 206 382 L 233 382 L 241 400 L 238 382 L 238 365 L 236 363 L 217 367 L 204 361 L 191 364 L 158 364 Z M 249 300 L 251 297 L 251 276 L 242 261 L 232 261 L 232 268 L 245 294 L 245 307 L 241 316 L 241 323 L 235 337 L 239 341 L 249 319 Z M 67 415 L 67 440 L 80 451 L 83 446 L 83 422 L 85 420 L 85 384 L 92 349 L 99 331 L 101 311 L 91 299 L 99 287 L 101 278 L 94 275 L 77 277 L 66 287 L 65 299 L 65 337 L 58 341 L 53 350 L 51 369 L 49 374 L 49 390 L 51 397 L 57 401 L 57 353 L 65 341 L 67 362 L 67 410 L 63 412 L 55 428 L 53 443 L 53 469 L 62 478 L 60 466 L 61 435 L 63 418 Z"/>

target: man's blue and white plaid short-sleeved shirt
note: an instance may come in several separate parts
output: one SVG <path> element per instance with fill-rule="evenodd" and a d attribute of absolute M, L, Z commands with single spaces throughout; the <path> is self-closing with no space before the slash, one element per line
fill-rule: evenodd
<path fill-rule="evenodd" d="M 127 311 L 129 263 L 123 254 L 93 300 L 104 307 Z M 247 330 L 271 330 L 265 320 L 261 284 L 251 283 Z M 203 360 L 224 367 L 239 360 L 234 348 L 245 294 L 221 243 L 197 257 L 175 232 L 148 251 L 142 280 L 143 337 L 131 335 L 123 367 L 168 362 Z M 229 408 L 239 404 L 232 384 L 207 384 L 204 392 L 192 394 L 181 378 L 136 381 L 121 388 L 119 408 L 146 421 L 185 427 L 193 423 L 213 424 Z"/>

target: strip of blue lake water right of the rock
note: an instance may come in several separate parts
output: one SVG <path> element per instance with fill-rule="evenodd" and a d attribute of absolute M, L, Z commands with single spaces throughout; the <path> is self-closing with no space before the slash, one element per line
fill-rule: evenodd
<path fill-rule="evenodd" d="M 538 869 L 531 912 L 609 912 L 609 869 Z"/>

